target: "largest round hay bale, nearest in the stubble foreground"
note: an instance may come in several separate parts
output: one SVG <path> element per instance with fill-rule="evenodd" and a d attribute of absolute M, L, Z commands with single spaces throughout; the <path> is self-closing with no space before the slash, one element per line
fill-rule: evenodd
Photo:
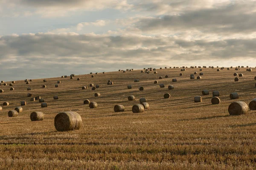
<path fill-rule="evenodd" d="M 58 113 L 54 118 L 54 126 L 57 131 L 79 130 L 82 124 L 81 116 L 72 111 Z"/>

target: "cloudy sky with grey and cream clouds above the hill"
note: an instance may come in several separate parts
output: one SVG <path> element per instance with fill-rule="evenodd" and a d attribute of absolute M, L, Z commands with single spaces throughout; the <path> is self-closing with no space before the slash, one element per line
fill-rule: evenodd
<path fill-rule="evenodd" d="M 255 0 L 0 0 L 4 81 L 255 56 Z"/>

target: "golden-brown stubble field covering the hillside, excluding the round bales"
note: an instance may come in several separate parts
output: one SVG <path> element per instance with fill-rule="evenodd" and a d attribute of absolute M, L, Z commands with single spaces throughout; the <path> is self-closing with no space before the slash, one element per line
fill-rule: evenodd
<path fill-rule="evenodd" d="M 115 71 L 93 74 L 94 78 L 85 74 L 74 79 L 47 78 L 47 82 L 33 79 L 29 85 L 20 80 L 12 86 L 14 91 L 10 91 L 10 82 L 7 86 L 2 83 L 0 169 L 255 169 L 256 111 L 230 116 L 227 110 L 231 102 L 248 105 L 256 98 L 255 68 L 252 72 L 246 69 L 217 72 L 217 68 L 168 68 L 157 69 L 157 74 Z M 189 79 L 195 71 L 204 73 L 202 79 Z M 235 72 L 244 74 L 239 82 L 234 81 Z M 160 76 L 163 79 L 158 79 Z M 172 82 L 173 78 L 177 82 Z M 113 85 L 107 85 L 109 79 Z M 55 88 L 58 80 L 61 83 Z M 82 90 L 90 83 L 100 87 Z M 160 88 L 160 83 L 165 88 Z M 168 85 L 175 88 L 168 90 Z M 144 91 L 139 91 L 139 86 Z M 32 90 L 27 91 L 28 87 Z M 210 94 L 195 103 L 194 97 L 201 96 L 204 89 Z M 214 90 L 220 91 L 219 105 L 211 104 Z M 239 93 L 239 99 L 230 99 L 233 92 Z M 41 108 L 38 100 L 30 102 L 27 93 L 41 96 L 48 107 Z M 101 96 L 94 97 L 94 93 Z M 163 98 L 166 93 L 171 94 L 169 99 Z M 58 100 L 53 99 L 55 95 Z M 129 95 L 136 100 L 128 101 Z M 132 113 L 132 106 L 139 104 L 141 97 L 147 99 L 149 109 Z M 85 99 L 97 102 L 98 108 L 83 105 Z M 8 111 L 20 106 L 21 101 L 27 102 L 23 112 L 8 117 Z M 3 102 L 10 105 L 3 106 Z M 114 112 L 114 105 L 124 105 L 125 111 Z M 43 112 L 44 120 L 32 122 L 33 111 Z M 81 129 L 56 131 L 54 118 L 62 111 L 79 113 Z"/>

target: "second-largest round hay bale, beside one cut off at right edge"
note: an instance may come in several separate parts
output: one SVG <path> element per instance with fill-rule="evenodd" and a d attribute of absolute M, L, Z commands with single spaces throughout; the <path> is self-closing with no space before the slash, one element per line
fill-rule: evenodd
<path fill-rule="evenodd" d="M 241 115 L 249 112 L 248 105 L 245 102 L 232 102 L 228 107 L 230 115 Z"/>

